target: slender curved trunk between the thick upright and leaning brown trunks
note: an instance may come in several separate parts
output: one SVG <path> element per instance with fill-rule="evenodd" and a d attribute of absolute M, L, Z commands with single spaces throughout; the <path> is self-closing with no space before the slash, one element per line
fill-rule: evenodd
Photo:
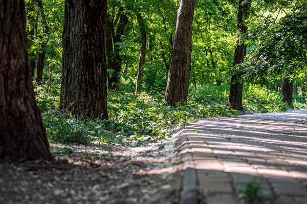
<path fill-rule="evenodd" d="M 141 38 L 142 38 L 142 44 L 141 44 L 141 54 L 138 61 L 138 77 L 137 77 L 137 84 L 136 84 L 136 94 L 139 94 L 142 92 L 142 83 L 143 83 L 143 65 L 146 58 L 146 41 L 147 41 L 147 35 L 146 35 L 146 27 L 144 24 L 144 20 L 142 16 L 138 13 L 137 14 L 138 23 L 140 26 L 141 31 Z"/>

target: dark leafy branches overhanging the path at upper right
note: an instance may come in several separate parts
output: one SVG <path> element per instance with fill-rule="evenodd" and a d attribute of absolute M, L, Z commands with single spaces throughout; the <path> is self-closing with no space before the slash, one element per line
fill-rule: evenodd
<path fill-rule="evenodd" d="M 265 77 L 269 74 L 295 75 L 307 64 L 307 5 L 294 6 L 278 22 L 271 16 L 250 35 L 257 38 L 259 46 L 243 64 L 249 77 Z"/>

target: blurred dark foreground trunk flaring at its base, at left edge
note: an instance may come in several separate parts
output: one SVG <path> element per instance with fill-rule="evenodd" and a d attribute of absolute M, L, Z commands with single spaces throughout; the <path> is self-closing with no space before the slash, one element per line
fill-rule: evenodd
<path fill-rule="evenodd" d="M 36 105 L 24 0 L 0 0 L 0 158 L 53 160 Z"/>

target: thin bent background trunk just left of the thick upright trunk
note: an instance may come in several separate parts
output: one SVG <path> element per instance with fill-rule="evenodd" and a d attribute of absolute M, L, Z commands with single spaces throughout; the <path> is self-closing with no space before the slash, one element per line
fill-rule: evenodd
<path fill-rule="evenodd" d="M 38 0 L 37 3 L 40 9 L 41 19 L 43 20 L 43 23 L 45 24 L 44 33 L 45 35 L 49 35 L 50 27 L 48 26 L 48 22 L 47 22 L 45 13 L 43 12 L 43 4 L 40 0 Z M 37 67 L 36 67 L 36 82 L 42 81 L 43 68 L 45 67 L 46 46 L 47 46 L 47 41 L 43 39 L 43 41 L 41 42 L 40 51 L 38 54 L 38 62 L 37 62 Z"/>

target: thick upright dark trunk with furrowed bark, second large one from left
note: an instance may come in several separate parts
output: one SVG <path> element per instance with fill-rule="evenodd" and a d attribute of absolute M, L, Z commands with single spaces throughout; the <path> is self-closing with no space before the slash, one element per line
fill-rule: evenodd
<path fill-rule="evenodd" d="M 60 108 L 108 119 L 106 0 L 65 1 Z"/>

